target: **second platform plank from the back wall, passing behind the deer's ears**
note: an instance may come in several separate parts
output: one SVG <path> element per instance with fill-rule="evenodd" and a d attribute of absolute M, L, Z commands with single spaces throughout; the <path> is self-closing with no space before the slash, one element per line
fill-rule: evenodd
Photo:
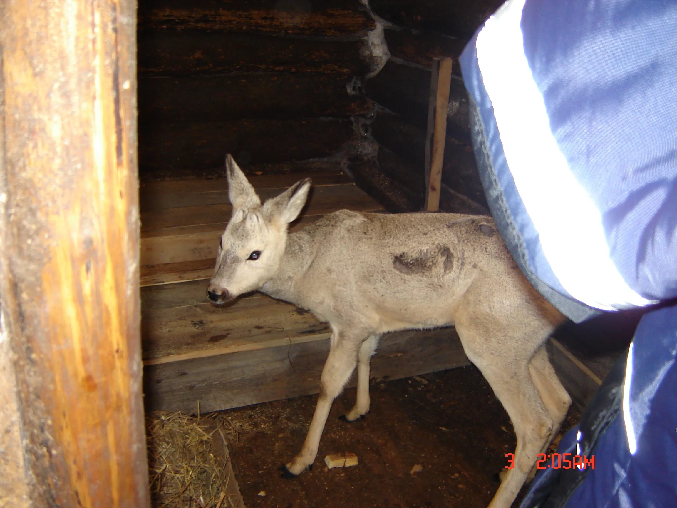
<path fill-rule="evenodd" d="M 374 201 L 354 185 L 338 185 L 313 188 L 312 196 L 304 215 L 323 215 L 347 208 L 360 211 L 373 210 Z M 279 194 L 279 190 L 266 189 L 259 192 L 262 198 Z M 219 203 L 149 211 L 141 217 L 141 230 L 192 226 L 228 221 L 232 207 L 223 192 Z"/>

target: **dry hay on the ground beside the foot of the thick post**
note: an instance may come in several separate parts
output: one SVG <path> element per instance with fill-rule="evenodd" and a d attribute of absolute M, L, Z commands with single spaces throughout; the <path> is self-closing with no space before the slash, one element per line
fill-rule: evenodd
<path fill-rule="evenodd" d="M 153 411 L 146 436 L 153 508 L 237 506 L 219 419 Z"/>

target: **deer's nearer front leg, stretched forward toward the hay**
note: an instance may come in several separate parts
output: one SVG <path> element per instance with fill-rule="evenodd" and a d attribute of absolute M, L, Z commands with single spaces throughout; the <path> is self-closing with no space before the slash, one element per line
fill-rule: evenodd
<path fill-rule="evenodd" d="M 355 339 L 355 337 L 337 334 L 334 331 L 329 356 L 322 370 L 318 405 L 315 406 L 315 414 L 310 423 L 310 429 L 308 430 L 305 442 L 303 442 L 301 452 L 294 457 L 293 461 L 285 466 L 284 469 L 286 471 L 284 471 L 284 476 L 288 478 L 298 476 L 313 464 L 315 456 L 318 454 L 320 437 L 329 416 L 332 402 L 341 394 L 345 383 L 348 382 L 355 369 L 357 350 L 361 343 L 361 337 Z"/>

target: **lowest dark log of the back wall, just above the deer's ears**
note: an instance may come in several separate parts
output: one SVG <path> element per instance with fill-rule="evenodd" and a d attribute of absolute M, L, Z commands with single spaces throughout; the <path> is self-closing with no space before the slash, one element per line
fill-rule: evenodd
<path fill-rule="evenodd" d="M 324 157 L 353 137 L 349 119 L 240 120 L 139 126 L 139 173 Z M 303 140 L 300 142 L 299 140 Z"/>

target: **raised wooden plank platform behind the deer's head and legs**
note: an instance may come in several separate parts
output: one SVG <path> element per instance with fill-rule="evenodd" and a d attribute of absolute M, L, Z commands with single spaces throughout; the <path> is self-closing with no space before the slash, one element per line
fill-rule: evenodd
<path fill-rule="evenodd" d="M 340 171 L 250 181 L 268 198 L 303 177 L 313 179 L 313 190 L 291 231 L 344 208 L 385 213 Z M 317 393 L 329 349 L 326 323 L 261 293 L 226 308 L 206 298 L 230 219 L 225 178 L 148 182 L 139 196 L 146 409 L 196 412 L 199 404 L 206 412 Z M 453 328 L 406 331 L 383 338 L 372 376 L 397 379 L 466 364 Z"/>

